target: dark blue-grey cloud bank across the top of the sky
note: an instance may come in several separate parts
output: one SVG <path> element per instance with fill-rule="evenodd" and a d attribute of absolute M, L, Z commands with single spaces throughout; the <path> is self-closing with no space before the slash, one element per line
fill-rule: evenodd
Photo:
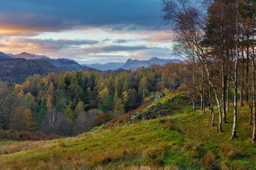
<path fill-rule="evenodd" d="M 79 26 L 155 30 L 162 26 L 160 10 L 161 2 L 155 0 L 3 1 L 0 35 L 35 35 Z"/>

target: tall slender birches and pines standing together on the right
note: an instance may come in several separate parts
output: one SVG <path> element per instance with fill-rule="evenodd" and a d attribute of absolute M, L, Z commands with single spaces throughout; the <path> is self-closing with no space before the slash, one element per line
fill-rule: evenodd
<path fill-rule="evenodd" d="M 218 130 L 227 122 L 230 93 L 233 94 L 233 133 L 237 137 L 238 101 L 247 103 L 253 124 L 252 142 L 256 141 L 255 104 L 255 14 L 256 2 L 250 0 L 163 0 L 163 19 L 172 23 L 177 33 L 177 51 L 194 66 L 194 83 L 201 95 L 201 110 L 213 102 L 218 106 Z M 195 4 L 200 4 L 199 8 Z M 199 87 L 199 88 L 198 88 Z M 213 100 L 214 98 L 214 100 Z M 253 117 L 253 118 L 252 118 Z M 230 120 L 231 121 L 231 120 Z"/>

